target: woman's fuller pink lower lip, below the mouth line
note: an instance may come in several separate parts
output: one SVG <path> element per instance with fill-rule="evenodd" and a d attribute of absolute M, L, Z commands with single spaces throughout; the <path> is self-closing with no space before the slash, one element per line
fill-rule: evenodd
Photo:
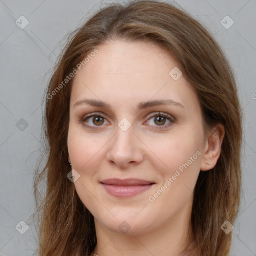
<path fill-rule="evenodd" d="M 137 185 L 137 186 L 115 186 L 115 185 L 101 185 L 106 189 L 106 191 L 116 197 L 131 197 L 146 190 L 150 189 L 154 184 L 150 185 Z"/>

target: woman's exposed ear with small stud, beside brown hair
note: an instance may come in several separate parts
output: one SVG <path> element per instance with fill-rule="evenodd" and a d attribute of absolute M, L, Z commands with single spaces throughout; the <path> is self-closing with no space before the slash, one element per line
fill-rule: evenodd
<path fill-rule="evenodd" d="M 221 145 L 224 135 L 225 128 L 223 124 L 219 123 L 207 136 L 206 142 L 204 144 L 201 171 L 210 170 L 216 165 L 221 153 Z"/>

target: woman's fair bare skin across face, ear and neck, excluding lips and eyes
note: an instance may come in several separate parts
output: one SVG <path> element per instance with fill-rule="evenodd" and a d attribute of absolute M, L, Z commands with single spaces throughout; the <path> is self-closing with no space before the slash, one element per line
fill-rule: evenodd
<path fill-rule="evenodd" d="M 95 219 L 97 246 L 91 255 L 177 256 L 192 242 L 187 232 L 193 189 L 199 172 L 215 166 L 224 128 L 219 124 L 204 134 L 197 96 L 183 76 L 174 80 L 169 75 L 178 64 L 160 46 L 116 40 L 97 49 L 73 79 L 68 131 L 69 161 L 80 175 L 75 189 Z M 74 106 L 85 98 L 104 101 L 111 109 Z M 165 99 L 184 107 L 136 109 L 141 101 Z M 165 123 L 159 124 L 150 116 L 159 111 L 175 120 L 163 118 Z M 93 112 L 104 117 L 100 124 L 93 117 L 84 123 L 96 129 L 80 121 Z M 126 131 L 118 127 L 123 118 L 131 124 Z M 155 201 L 149 201 L 198 151 L 197 159 Z M 138 178 L 156 184 L 133 197 L 117 198 L 99 183 L 108 178 Z M 118 228 L 123 221 L 130 227 L 127 233 Z"/>

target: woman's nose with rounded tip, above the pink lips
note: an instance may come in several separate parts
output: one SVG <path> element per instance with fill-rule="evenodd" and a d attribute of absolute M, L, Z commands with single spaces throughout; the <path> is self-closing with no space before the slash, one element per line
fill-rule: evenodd
<path fill-rule="evenodd" d="M 137 165 L 143 160 L 143 143 L 133 133 L 132 126 L 123 131 L 117 127 L 117 134 L 111 139 L 106 160 L 119 168 Z"/>

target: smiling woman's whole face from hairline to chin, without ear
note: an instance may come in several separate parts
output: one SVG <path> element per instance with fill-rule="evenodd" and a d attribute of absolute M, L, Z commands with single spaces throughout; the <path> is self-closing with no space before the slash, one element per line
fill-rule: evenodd
<path fill-rule="evenodd" d="M 195 92 L 155 44 L 97 49 L 70 99 L 68 152 L 81 201 L 96 223 L 119 233 L 190 217 L 204 145 Z"/>

